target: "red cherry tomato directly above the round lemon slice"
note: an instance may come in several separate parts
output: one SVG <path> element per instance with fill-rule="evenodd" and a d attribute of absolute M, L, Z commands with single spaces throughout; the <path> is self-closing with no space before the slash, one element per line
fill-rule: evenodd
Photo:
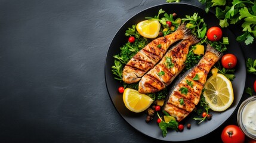
<path fill-rule="evenodd" d="M 226 69 L 232 69 L 236 66 L 236 63 L 238 63 L 238 59 L 233 54 L 226 54 L 223 55 L 221 58 L 221 64 Z"/>

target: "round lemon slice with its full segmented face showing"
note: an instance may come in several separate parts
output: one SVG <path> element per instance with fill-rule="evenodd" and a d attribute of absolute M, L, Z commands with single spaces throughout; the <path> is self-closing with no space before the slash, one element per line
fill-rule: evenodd
<path fill-rule="evenodd" d="M 211 76 L 205 83 L 203 96 L 209 108 L 214 111 L 224 111 L 230 107 L 234 100 L 232 83 L 226 76 L 218 73 Z"/>

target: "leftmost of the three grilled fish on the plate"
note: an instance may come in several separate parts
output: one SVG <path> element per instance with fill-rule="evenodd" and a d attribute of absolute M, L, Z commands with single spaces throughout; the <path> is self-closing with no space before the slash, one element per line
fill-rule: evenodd
<path fill-rule="evenodd" d="M 162 59 L 169 46 L 181 39 L 190 38 L 190 35 L 192 34 L 186 24 L 181 24 L 174 33 L 153 40 L 128 61 L 123 69 L 122 80 L 125 83 L 138 82 Z"/>

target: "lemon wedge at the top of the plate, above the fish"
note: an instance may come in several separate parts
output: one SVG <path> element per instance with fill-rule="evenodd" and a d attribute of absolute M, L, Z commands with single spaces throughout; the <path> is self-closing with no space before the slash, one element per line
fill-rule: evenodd
<path fill-rule="evenodd" d="M 161 24 L 158 20 L 144 20 L 136 25 L 136 29 L 145 38 L 156 38 L 159 34 Z"/>

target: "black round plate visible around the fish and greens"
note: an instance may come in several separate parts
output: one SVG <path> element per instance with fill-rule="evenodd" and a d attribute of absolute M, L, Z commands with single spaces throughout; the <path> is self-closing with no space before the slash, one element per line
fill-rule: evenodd
<path fill-rule="evenodd" d="M 128 27 L 131 27 L 132 24 L 137 24 L 140 21 L 145 20 L 144 17 L 153 17 L 158 15 L 158 11 L 162 8 L 166 13 L 177 13 L 177 17 L 185 18 L 185 15 L 192 15 L 193 13 L 198 13 L 199 16 L 203 17 L 207 26 L 219 26 L 219 20 L 215 17 L 214 14 L 206 14 L 204 10 L 199 7 L 195 7 L 189 4 L 162 4 L 155 7 L 148 8 L 141 11 L 140 13 L 131 17 L 122 27 L 118 30 L 115 37 L 109 46 L 109 51 L 107 52 L 106 64 L 105 64 L 105 80 L 109 96 L 115 105 L 116 110 L 121 114 L 121 116 L 135 129 L 139 130 L 141 133 L 144 133 L 147 136 L 152 138 L 164 140 L 164 141 L 188 141 L 191 139 L 200 138 L 213 130 L 221 126 L 235 111 L 236 107 L 239 104 L 239 101 L 243 94 L 243 89 L 245 88 L 245 78 L 246 78 L 246 67 L 245 67 L 245 58 L 243 52 L 240 48 L 239 43 L 236 41 L 236 36 L 229 30 L 223 29 L 223 36 L 229 37 L 230 45 L 228 46 L 227 52 L 235 54 L 238 58 L 238 64 L 236 66 L 236 78 L 233 80 L 233 91 L 235 100 L 231 107 L 223 112 L 214 112 L 211 111 L 212 120 L 202 122 L 198 125 L 198 121 L 193 120 L 195 114 L 189 115 L 184 119 L 183 123 L 186 125 L 190 123 L 192 128 L 184 129 L 183 132 L 176 132 L 175 130 L 168 130 L 167 136 L 164 138 L 162 136 L 161 129 L 159 129 L 158 124 L 155 119 L 146 123 L 146 114 L 143 113 L 133 113 L 129 111 L 122 101 L 122 94 L 119 94 L 118 88 L 121 86 L 121 83 L 118 80 L 114 79 L 112 74 L 111 67 L 114 65 L 113 55 L 116 55 L 120 52 L 120 47 L 123 46 L 128 37 L 125 36 L 125 30 Z"/>

